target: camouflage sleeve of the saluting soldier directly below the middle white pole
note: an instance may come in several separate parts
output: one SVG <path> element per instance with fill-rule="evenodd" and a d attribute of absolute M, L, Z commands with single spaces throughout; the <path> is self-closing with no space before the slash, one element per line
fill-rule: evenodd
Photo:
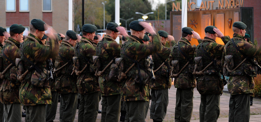
<path fill-rule="evenodd" d="M 121 46 L 120 44 L 113 42 L 113 41 L 108 41 L 104 47 L 109 51 L 112 52 L 112 55 L 114 57 L 119 57 L 120 52 L 121 52 Z"/>

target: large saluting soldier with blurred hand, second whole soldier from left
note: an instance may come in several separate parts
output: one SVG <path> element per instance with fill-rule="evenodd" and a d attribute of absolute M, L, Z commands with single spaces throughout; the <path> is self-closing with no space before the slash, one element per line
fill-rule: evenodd
<path fill-rule="evenodd" d="M 59 52 L 59 44 L 54 30 L 50 28 L 48 34 L 50 46 L 41 44 L 47 30 L 46 24 L 40 19 L 33 19 L 29 25 L 30 33 L 21 44 L 20 53 L 22 66 L 18 65 L 19 79 L 22 84 L 19 89 L 19 98 L 26 106 L 26 118 L 28 122 L 45 122 L 45 106 L 51 104 L 51 90 L 48 82 L 49 71 L 46 68 L 46 60 L 54 58 Z M 30 68 L 31 67 L 31 68 Z"/>

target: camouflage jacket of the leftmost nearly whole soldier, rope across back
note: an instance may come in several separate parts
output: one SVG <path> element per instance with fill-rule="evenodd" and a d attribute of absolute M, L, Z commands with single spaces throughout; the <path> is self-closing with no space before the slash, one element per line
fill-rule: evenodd
<path fill-rule="evenodd" d="M 3 55 L 4 54 L 4 55 Z M 9 37 L 1 50 L 2 68 L 1 72 L 11 63 L 15 63 L 16 58 L 20 58 L 20 43 Z M 21 82 L 16 79 L 17 67 L 15 64 L 10 67 L 1 79 L 0 100 L 4 104 L 20 103 L 19 87 Z"/>

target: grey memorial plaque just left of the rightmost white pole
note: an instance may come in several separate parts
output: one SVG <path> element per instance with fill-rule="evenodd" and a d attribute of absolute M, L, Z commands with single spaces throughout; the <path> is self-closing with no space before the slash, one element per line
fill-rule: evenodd
<path fill-rule="evenodd" d="M 179 40 L 181 37 L 181 15 L 173 15 L 173 31 L 172 35 L 175 40 Z"/>

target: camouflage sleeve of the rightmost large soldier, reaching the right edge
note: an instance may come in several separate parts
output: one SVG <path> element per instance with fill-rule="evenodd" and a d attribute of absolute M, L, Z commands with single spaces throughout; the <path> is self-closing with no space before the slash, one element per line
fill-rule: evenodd
<path fill-rule="evenodd" d="M 260 46 L 253 46 L 252 44 L 246 42 L 246 41 L 240 41 L 238 42 L 237 46 L 247 56 L 254 57 L 256 55 L 260 55 L 261 48 Z"/>

